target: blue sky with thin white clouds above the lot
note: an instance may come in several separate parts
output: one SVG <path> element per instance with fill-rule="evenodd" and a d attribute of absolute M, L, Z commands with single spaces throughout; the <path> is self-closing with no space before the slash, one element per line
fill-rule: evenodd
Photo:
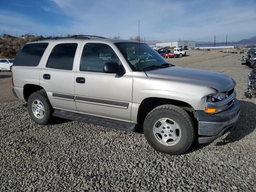
<path fill-rule="evenodd" d="M 0 34 L 88 34 L 162 42 L 256 36 L 255 0 L 0 0 Z"/>

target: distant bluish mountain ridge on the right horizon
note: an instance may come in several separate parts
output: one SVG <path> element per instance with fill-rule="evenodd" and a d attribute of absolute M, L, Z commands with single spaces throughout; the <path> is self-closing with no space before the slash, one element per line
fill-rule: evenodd
<path fill-rule="evenodd" d="M 231 46 L 232 42 L 227 42 L 227 46 Z M 240 41 L 234 41 L 234 46 L 239 45 L 256 45 L 256 36 L 248 39 L 242 39 Z M 196 42 L 196 47 L 214 46 L 214 42 Z M 226 46 L 226 42 L 216 42 L 215 46 Z"/>

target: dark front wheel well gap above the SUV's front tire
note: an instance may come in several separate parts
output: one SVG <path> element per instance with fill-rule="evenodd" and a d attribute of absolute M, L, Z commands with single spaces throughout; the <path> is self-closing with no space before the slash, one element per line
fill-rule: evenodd
<path fill-rule="evenodd" d="M 173 99 L 153 97 L 153 98 L 146 98 L 141 102 L 138 109 L 137 124 L 143 125 L 146 116 L 151 110 L 153 110 L 154 108 L 160 105 L 166 105 L 166 104 L 171 104 L 171 105 L 175 105 L 180 108 L 183 108 L 184 110 L 186 110 L 186 112 L 188 112 L 188 114 L 193 119 L 196 118 L 196 112 L 194 111 L 194 108 L 186 102 L 173 100 Z"/>

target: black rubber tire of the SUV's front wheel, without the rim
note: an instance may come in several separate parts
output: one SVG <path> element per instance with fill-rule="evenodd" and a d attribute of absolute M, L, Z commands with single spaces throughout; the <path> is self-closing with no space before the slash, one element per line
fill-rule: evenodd
<path fill-rule="evenodd" d="M 154 135 L 154 124 L 160 118 L 170 118 L 180 126 L 182 134 L 176 144 L 166 146 L 160 143 Z M 178 155 L 186 152 L 195 138 L 195 127 L 191 117 L 185 110 L 174 105 L 162 105 L 150 111 L 145 118 L 143 130 L 146 140 L 152 148 L 170 155 Z"/>

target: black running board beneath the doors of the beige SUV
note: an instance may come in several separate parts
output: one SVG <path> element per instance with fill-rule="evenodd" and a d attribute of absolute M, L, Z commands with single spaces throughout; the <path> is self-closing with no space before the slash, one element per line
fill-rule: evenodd
<path fill-rule="evenodd" d="M 80 121 L 84 123 L 114 128 L 118 130 L 124 130 L 124 131 L 136 130 L 136 124 L 133 124 L 133 123 L 123 122 L 123 121 L 108 119 L 103 117 L 97 117 L 97 116 L 92 116 L 87 114 L 81 114 L 76 112 L 70 112 L 65 110 L 54 109 L 53 116 L 68 119 L 68 120 Z"/>

